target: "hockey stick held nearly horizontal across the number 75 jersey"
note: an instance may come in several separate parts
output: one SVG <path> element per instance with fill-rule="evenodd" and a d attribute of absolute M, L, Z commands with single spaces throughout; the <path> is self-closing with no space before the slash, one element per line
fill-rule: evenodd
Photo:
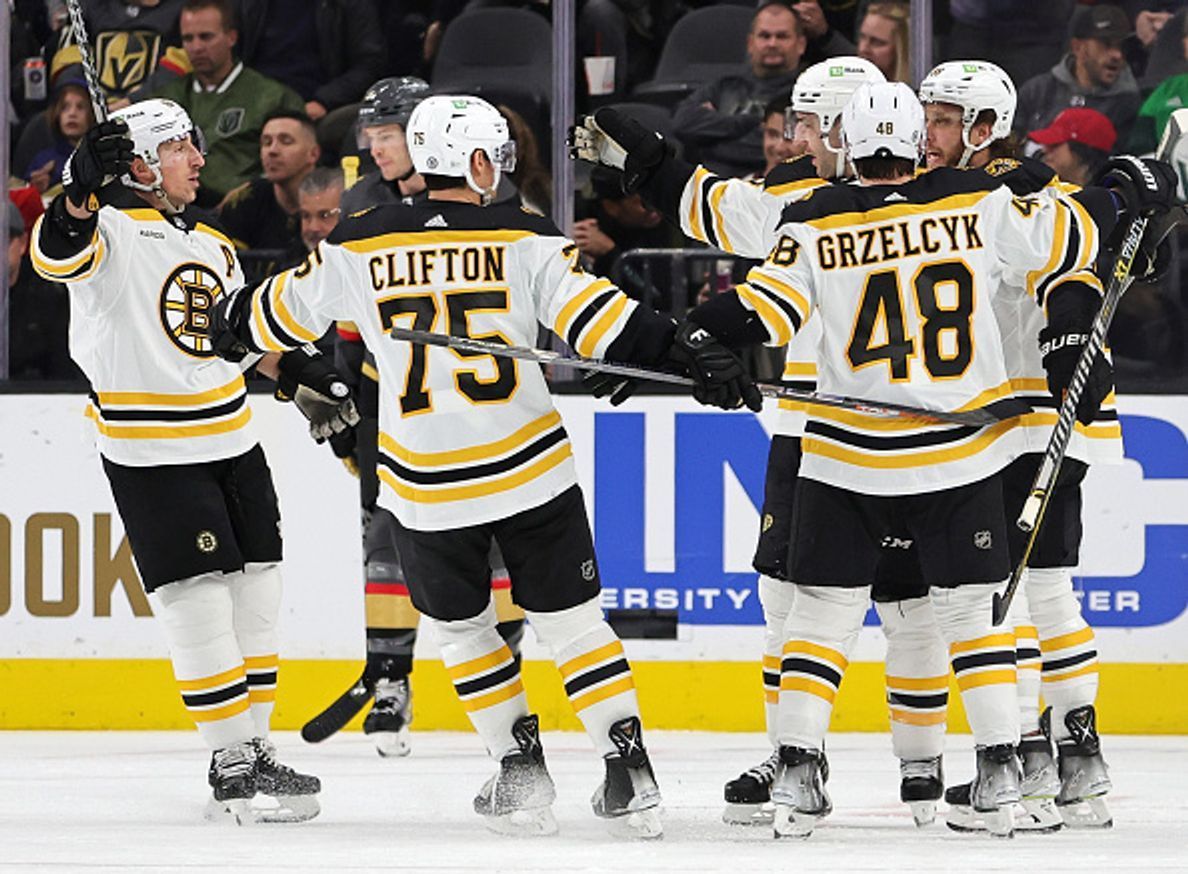
<path fill-rule="evenodd" d="M 637 365 L 621 365 L 600 359 L 583 359 L 562 355 L 546 349 L 533 349 L 526 346 L 504 346 L 503 343 L 489 343 L 484 340 L 470 337 L 455 337 L 448 334 L 435 334 L 432 331 L 412 330 L 409 328 L 393 327 L 388 331 L 393 340 L 407 340 L 412 343 L 425 343 L 428 346 L 440 346 L 459 352 L 481 353 L 484 355 L 498 355 L 505 359 L 518 359 L 520 361 L 535 361 L 538 365 L 567 365 L 580 370 L 593 370 L 596 373 L 612 373 L 630 379 L 647 379 L 653 382 L 668 382 L 676 386 L 691 386 L 693 380 L 676 373 L 656 370 Z M 820 392 L 805 392 L 800 388 L 791 388 L 772 382 L 757 382 L 759 393 L 767 398 L 782 398 L 784 400 L 796 400 L 802 404 L 816 406 L 830 406 L 841 410 L 854 410 L 867 416 L 885 416 L 902 419 L 921 419 L 924 422 L 939 422 L 953 425 L 966 425 L 972 428 L 984 428 L 994 425 L 1004 419 L 1015 418 L 1031 412 L 1031 408 L 1022 401 L 1004 399 L 990 406 L 977 410 L 958 410 L 947 412 L 943 410 L 924 410 L 923 407 L 904 406 L 881 400 L 862 400 L 861 398 L 847 398 L 840 394 L 822 394 Z"/>

